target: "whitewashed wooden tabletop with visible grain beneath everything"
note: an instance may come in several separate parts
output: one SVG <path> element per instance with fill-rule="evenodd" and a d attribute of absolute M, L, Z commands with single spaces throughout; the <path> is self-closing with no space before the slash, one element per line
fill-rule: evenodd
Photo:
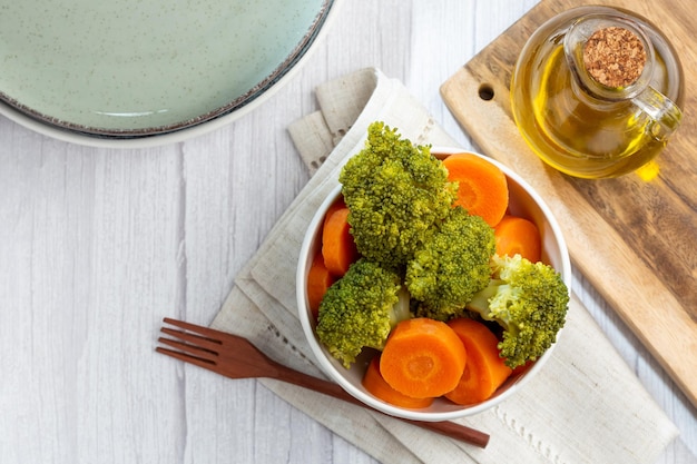
<path fill-rule="evenodd" d="M 0 463 L 374 462 L 255 381 L 155 354 L 161 318 L 208 324 L 306 182 L 286 126 L 316 85 L 377 67 L 469 147 L 439 86 L 534 3 L 347 0 L 287 86 L 184 142 L 88 148 L 0 118 Z M 575 289 L 681 430 L 659 462 L 697 461 L 696 409 Z"/>

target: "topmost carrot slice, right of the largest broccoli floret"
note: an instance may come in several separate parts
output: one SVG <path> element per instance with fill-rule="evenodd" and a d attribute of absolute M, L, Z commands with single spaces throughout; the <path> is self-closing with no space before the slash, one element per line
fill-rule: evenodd
<path fill-rule="evenodd" d="M 458 181 L 455 205 L 481 216 L 495 226 L 508 208 L 508 181 L 498 166 L 473 154 L 455 154 L 443 159 L 448 179 Z"/>

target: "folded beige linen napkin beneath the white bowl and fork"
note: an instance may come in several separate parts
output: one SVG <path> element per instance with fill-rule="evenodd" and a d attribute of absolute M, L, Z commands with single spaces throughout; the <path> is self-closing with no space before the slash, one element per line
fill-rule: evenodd
<path fill-rule="evenodd" d="M 375 69 L 320 86 L 316 98 L 321 111 L 288 128 L 314 175 L 237 276 L 213 326 L 245 335 L 277 361 L 322 376 L 295 299 L 298 250 L 315 209 L 337 185 L 342 164 L 363 147 L 374 120 L 416 144 L 455 142 L 399 81 Z M 484 450 L 298 387 L 261 382 L 383 463 L 652 464 L 677 436 L 576 297 L 539 375 L 497 407 L 458 421 L 491 434 Z"/>

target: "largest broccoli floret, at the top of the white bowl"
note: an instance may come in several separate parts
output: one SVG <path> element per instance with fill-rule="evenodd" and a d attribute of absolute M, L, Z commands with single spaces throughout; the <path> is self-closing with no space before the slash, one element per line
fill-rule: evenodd
<path fill-rule="evenodd" d="M 428 241 L 458 190 L 429 147 L 412 145 L 383 122 L 369 127 L 365 147 L 338 180 L 359 251 L 391 268 L 403 267 Z"/>

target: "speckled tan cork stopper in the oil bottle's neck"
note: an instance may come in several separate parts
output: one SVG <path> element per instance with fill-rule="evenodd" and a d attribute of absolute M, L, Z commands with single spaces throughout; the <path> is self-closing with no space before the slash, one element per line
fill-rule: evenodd
<path fill-rule="evenodd" d="M 628 29 L 611 26 L 590 36 L 583 48 L 583 66 L 598 82 L 610 88 L 635 83 L 646 65 L 641 39 Z"/>

